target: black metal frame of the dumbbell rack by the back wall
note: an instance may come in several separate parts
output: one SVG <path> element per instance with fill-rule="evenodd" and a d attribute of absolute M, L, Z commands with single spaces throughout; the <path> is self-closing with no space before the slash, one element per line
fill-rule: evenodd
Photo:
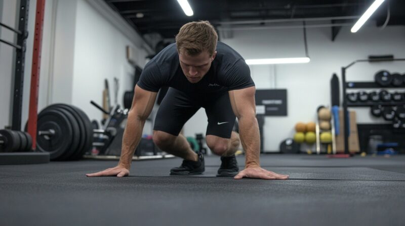
<path fill-rule="evenodd" d="M 374 106 L 374 105 L 382 105 L 382 106 L 392 106 L 392 105 L 401 105 L 405 104 L 405 101 L 389 101 L 389 102 L 384 102 L 384 101 L 379 101 L 379 102 L 356 102 L 356 103 L 348 103 L 346 99 L 346 90 L 347 89 L 363 89 L 363 88 L 405 88 L 405 84 L 402 84 L 401 86 L 393 86 L 393 85 L 388 85 L 388 86 L 380 86 L 379 84 L 373 82 L 348 82 L 346 81 L 346 70 L 353 66 L 356 63 L 374 63 L 374 62 L 391 62 L 391 61 L 405 61 L 405 59 L 369 59 L 369 60 L 356 60 L 349 64 L 346 67 L 342 67 L 342 87 L 343 87 L 343 131 L 342 133 L 344 134 L 343 140 L 344 140 L 344 148 L 345 148 L 345 154 L 349 154 L 349 127 L 346 124 L 346 122 L 349 122 L 349 117 L 347 112 L 348 107 L 365 107 L 365 106 Z M 396 130 L 396 132 L 405 132 L 404 130 Z"/>

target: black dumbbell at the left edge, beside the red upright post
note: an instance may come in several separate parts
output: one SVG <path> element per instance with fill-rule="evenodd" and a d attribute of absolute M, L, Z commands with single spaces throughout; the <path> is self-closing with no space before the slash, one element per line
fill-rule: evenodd
<path fill-rule="evenodd" d="M 0 130 L 0 152 L 30 151 L 32 138 L 22 131 Z"/>

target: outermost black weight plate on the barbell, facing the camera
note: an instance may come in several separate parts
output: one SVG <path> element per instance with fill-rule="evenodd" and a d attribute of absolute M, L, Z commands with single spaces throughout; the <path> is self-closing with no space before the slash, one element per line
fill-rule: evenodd
<path fill-rule="evenodd" d="M 55 132 L 54 135 L 39 135 L 39 131 Z M 59 110 L 46 109 L 38 114 L 36 149 L 49 152 L 51 160 L 58 160 L 70 148 L 73 140 L 72 125 Z"/>

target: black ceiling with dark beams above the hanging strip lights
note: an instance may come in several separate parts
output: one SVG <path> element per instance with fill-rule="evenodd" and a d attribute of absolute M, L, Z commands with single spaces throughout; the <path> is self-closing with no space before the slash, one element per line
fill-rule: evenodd
<path fill-rule="evenodd" d="M 164 38 L 173 38 L 183 24 L 197 20 L 209 20 L 217 28 L 222 26 L 228 29 L 237 26 L 267 26 L 276 19 L 294 21 L 302 18 L 324 18 L 328 20 L 327 24 L 354 24 L 356 18 L 374 0 L 188 0 L 194 11 L 191 17 L 183 13 L 176 0 L 105 2 L 142 35 L 159 33 Z M 378 26 L 383 26 L 388 12 L 387 25 L 405 25 L 405 1 L 386 0 L 372 19 L 377 21 Z"/>

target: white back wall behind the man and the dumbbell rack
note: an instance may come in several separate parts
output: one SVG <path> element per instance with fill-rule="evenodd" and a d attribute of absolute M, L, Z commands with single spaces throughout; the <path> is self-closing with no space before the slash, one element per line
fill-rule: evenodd
<path fill-rule="evenodd" d="M 395 58 L 405 58 L 403 26 L 389 26 L 380 31 L 369 25 L 355 34 L 350 33 L 349 27 L 343 27 L 335 41 L 331 40 L 330 28 L 308 28 L 307 40 L 311 58 L 308 64 L 250 67 L 258 89 L 288 90 L 288 117 L 266 117 L 266 151 L 278 151 L 281 140 L 293 136 L 297 122 L 315 120 L 317 106 L 330 104 L 330 79 L 333 73 L 337 73 L 340 79 L 341 67 L 354 60 L 367 59 L 372 54 L 394 54 Z M 233 31 L 233 38 L 222 41 L 245 59 L 305 57 L 302 29 Z M 374 73 L 381 69 L 405 73 L 405 63 L 356 64 L 347 71 L 346 78 L 373 81 Z M 357 122 L 376 122 L 370 116 L 370 108 L 353 109 L 358 114 Z M 200 110 L 186 124 L 185 134 L 205 133 L 206 127 L 207 117 L 204 110 Z"/>

